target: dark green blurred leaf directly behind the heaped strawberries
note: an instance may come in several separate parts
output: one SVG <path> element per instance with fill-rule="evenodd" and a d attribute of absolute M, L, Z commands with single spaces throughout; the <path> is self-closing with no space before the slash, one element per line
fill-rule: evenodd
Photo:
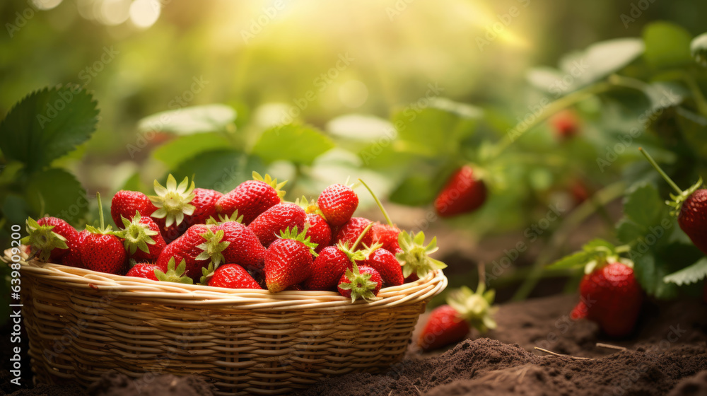
<path fill-rule="evenodd" d="M 228 192 L 241 182 L 250 180 L 254 170 L 265 173 L 258 158 L 235 150 L 215 150 L 182 161 L 171 173 L 179 180 L 194 175 L 197 187 Z"/>

